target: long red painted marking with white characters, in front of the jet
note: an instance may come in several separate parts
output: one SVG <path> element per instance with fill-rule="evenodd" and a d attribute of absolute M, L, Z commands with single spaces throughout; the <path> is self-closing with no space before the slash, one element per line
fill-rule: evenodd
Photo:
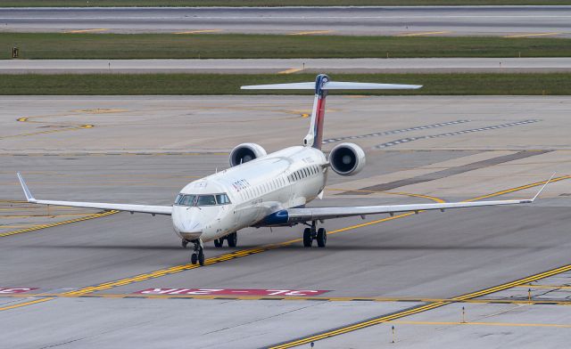
<path fill-rule="evenodd" d="M 147 288 L 138 295 L 206 295 L 206 296 L 319 296 L 325 289 L 236 289 L 236 288 Z"/>

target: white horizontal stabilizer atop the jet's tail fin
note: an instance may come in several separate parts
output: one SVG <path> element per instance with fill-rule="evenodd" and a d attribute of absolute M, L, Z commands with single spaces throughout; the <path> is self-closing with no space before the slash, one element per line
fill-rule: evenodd
<path fill-rule="evenodd" d="M 321 86 L 322 90 L 415 90 L 422 85 L 401 84 L 374 84 L 374 83 L 350 83 L 343 81 L 327 81 Z M 292 83 L 270 85 L 246 85 L 243 90 L 315 90 L 315 83 Z"/>

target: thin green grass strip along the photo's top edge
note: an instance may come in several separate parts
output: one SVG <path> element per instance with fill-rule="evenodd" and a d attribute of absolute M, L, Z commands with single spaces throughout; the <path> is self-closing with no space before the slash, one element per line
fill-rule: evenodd
<path fill-rule="evenodd" d="M 554 5 L 569 0 L 2 0 L 0 7 Z"/>

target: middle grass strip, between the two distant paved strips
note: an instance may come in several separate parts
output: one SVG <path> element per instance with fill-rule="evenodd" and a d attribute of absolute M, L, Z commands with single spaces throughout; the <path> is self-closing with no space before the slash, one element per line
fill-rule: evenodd
<path fill-rule="evenodd" d="M 0 59 L 571 57 L 571 39 L 0 33 Z"/>

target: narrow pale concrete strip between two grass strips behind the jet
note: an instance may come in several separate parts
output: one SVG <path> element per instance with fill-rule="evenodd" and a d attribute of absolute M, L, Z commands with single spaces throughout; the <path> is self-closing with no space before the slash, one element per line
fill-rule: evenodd
<path fill-rule="evenodd" d="M 571 71 L 571 58 L 3 60 L 2 74 L 524 73 Z"/>

